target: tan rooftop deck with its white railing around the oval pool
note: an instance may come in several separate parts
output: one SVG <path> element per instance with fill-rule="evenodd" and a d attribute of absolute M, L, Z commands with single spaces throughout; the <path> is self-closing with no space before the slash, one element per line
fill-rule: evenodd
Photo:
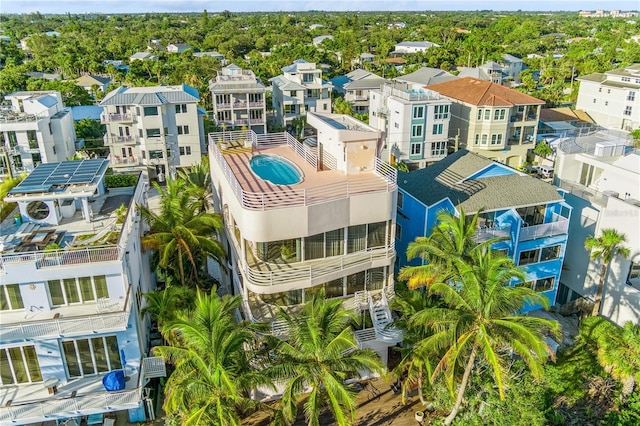
<path fill-rule="evenodd" d="M 245 149 L 242 148 L 244 141 L 247 141 Z M 221 150 L 220 142 L 225 143 L 227 148 Z M 247 209 L 308 206 L 396 189 L 396 170 L 378 159 L 373 170 L 364 170 L 356 175 L 333 170 L 329 161 L 325 161 L 318 170 L 316 154 L 288 133 L 213 133 L 209 135 L 209 149 L 242 206 Z M 275 154 L 286 158 L 302 171 L 303 181 L 296 185 L 273 185 L 258 178 L 249 165 L 249 160 L 258 154 Z"/>

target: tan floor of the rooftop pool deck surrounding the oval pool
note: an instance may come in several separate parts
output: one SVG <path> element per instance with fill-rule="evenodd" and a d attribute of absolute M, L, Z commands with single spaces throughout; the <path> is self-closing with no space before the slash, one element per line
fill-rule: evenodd
<path fill-rule="evenodd" d="M 302 182 L 295 185 L 274 185 L 260 179 L 253 173 L 249 161 L 252 157 L 260 154 L 272 154 L 286 158 L 294 163 L 303 173 Z M 316 170 L 302 157 L 297 155 L 293 149 L 287 145 L 270 146 L 265 148 L 253 148 L 251 152 L 225 153 L 231 171 L 235 175 L 243 190 L 255 193 L 265 192 L 291 192 L 294 190 L 317 188 L 333 183 L 360 182 L 372 192 L 384 191 L 387 182 L 373 172 L 361 172 L 357 175 L 346 175 L 338 170 Z"/>

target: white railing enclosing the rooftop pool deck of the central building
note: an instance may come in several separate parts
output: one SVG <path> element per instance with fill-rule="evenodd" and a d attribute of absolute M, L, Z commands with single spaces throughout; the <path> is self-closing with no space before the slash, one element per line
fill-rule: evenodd
<path fill-rule="evenodd" d="M 241 202 L 242 206 L 250 210 L 268 210 L 283 207 L 310 206 L 324 203 L 332 200 L 349 198 L 353 195 L 360 195 L 375 192 L 391 192 L 396 189 L 397 171 L 387 163 L 380 159 L 375 159 L 374 172 L 385 180 L 386 186 L 380 188 L 379 182 L 373 179 L 362 179 L 357 181 L 344 180 L 329 185 L 315 186 L 304 189 L 282 189 L 280 191 L 271 192 L 250 192 L 245 191 L 240 186 L 238 179 L 231 171 L 231 168 L 224 159 L 222 151 L 218 148 L 216 142 L 239 142 L 251 140 L 255 146 L 267 147 L 276 146 L 287 143 L 294 151 L 303 156 L 310 164 L 315 155 L 312 152 L 304 150 L 303 144 L 297 141 L 288 133 L 256 135 L 253 131 L 233 131 L 219 132 L 209 134 L 209 146 L 212 157 L 217 161 L 222 169 L 222 173 L 231 185 L 231 189 Z M 313 164 L 312 164 L 313 166 Z"/>

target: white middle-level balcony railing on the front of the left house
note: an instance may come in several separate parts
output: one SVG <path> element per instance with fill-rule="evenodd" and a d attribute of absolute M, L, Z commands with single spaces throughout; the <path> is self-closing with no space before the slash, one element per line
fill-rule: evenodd
<path fill-rule="evenodd" d="M 99 312 L 104 303 L 96 303 L 96 312 L 89 315 L 79 315 L 69 318 L 53 318 L 22 322 L 19 324 L 0 325 L 0 340 L 12 342 L 21 339 L 41 339 L 85 336 L 93 333 L 126 330 L 131 312 L 131 290 L 127 292 L 124 306 L 117 300 L 106 299 L 107 303 L 117 312 Z M 64 308 L 60 309 L 64 312 Z M 64 315 L 64 314 L 63 314 Z"/>

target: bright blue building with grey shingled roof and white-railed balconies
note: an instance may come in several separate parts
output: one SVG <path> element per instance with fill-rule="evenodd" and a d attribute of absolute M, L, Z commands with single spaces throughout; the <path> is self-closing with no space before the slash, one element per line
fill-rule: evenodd
<path fill-rule="evenodd" d="M 526 285 L 553 305 L 567 245 L 571 206 L 556 188 L 483 156 L 460 150 L 425 169 L 398 175 L 397 268 L 409 261 L 407 246 L 428 236 L 438 213 L 473 215 L 482 210 L 478 241 L 508 237 L 494 245 L 526 272 Z M 537 306 L 528 307 L 532 310 Z"/>

